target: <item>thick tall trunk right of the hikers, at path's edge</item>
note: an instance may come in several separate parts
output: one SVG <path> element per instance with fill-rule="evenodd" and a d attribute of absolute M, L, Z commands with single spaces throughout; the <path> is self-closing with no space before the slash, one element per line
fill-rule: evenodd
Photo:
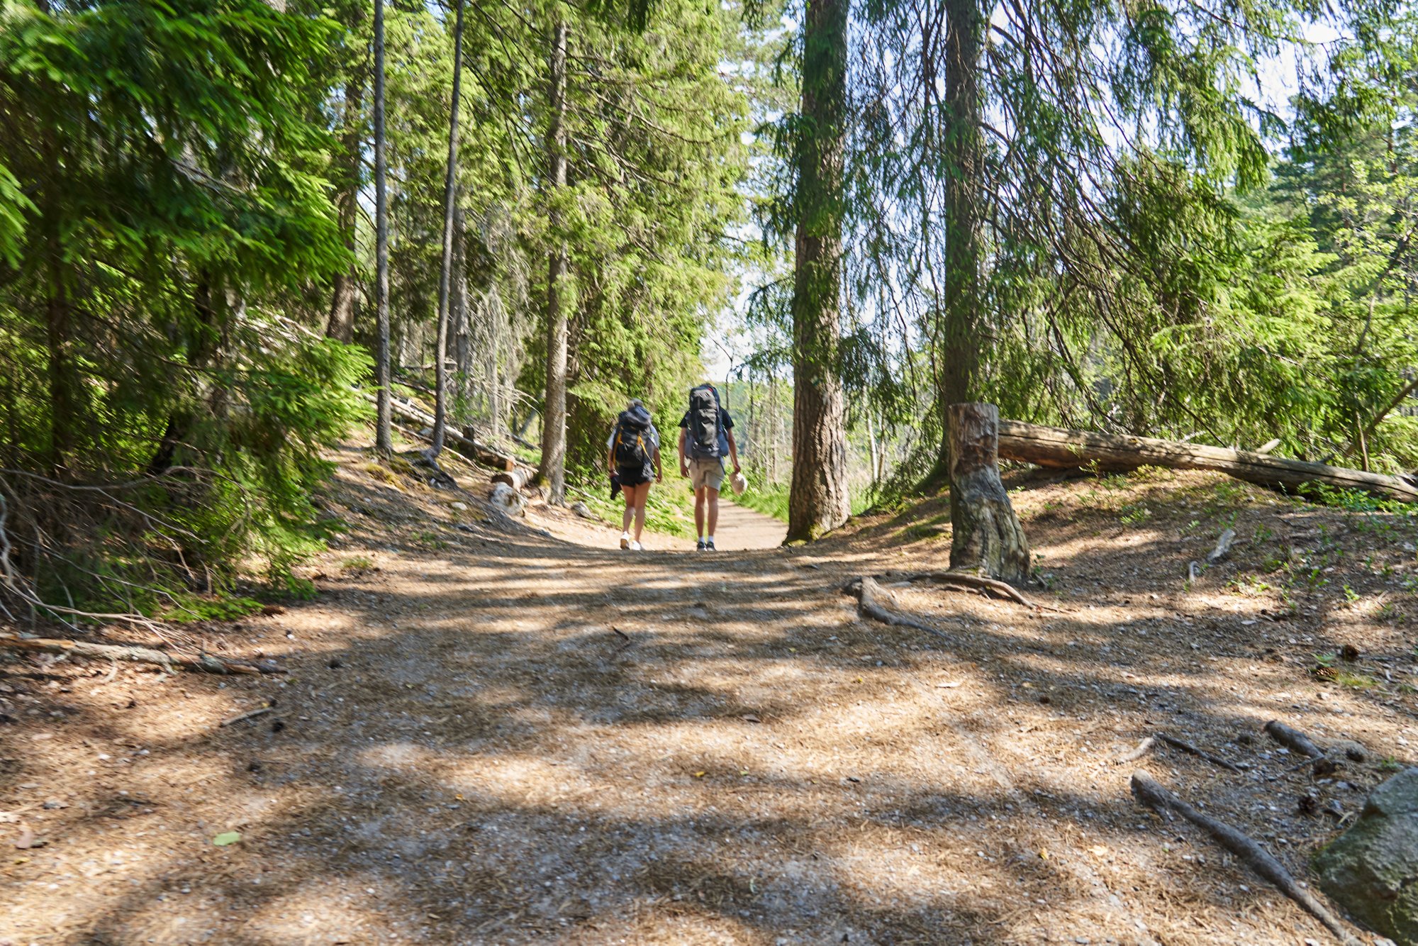
<path fill-rule="evenodd" d="M 848 0 L 807 0 L 803 132 L 797 152 L 793 271 L 793 486 L 788 540 L 847 522 L 847 428 L 841 342 L 842 159 L 847 142 Z"/>

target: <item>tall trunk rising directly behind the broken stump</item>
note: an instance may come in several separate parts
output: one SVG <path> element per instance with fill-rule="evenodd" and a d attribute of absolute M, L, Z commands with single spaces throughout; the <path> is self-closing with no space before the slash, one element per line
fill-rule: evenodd
<path fill-rule="evenodd" d="M 950 404 L 976 396 L 980 370 L 980 265 L 984 220 L 980 206 L 984 149 L 980 139 L 978 0 L 944 0 L 946 9 L 946 285 L 942 301 L 936 410 L 940 414 L 937 469 L 950 469 Z"/>

